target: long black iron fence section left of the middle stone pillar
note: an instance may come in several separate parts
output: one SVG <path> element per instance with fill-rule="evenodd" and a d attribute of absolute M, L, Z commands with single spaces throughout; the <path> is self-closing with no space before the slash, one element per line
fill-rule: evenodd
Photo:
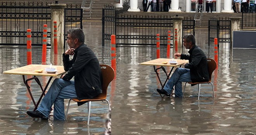
<path fill-rule="evenodd" d="M 117 15 L 116 27 L 116 44 L 155 45 L 156 34 L 160 34 L 160 44 L 167 45 L 173 20 L 169 15 L 120 14 Z"/>

